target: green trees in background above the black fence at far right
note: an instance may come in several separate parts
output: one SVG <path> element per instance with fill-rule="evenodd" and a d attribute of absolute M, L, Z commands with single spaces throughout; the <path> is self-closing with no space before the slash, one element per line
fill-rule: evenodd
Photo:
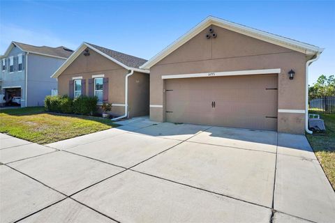
<path fill-rule="evenodd" d="M 315 84 L 308 86 L 309 99 L 335 95 L 334 75 L 321 75 Z"/>

